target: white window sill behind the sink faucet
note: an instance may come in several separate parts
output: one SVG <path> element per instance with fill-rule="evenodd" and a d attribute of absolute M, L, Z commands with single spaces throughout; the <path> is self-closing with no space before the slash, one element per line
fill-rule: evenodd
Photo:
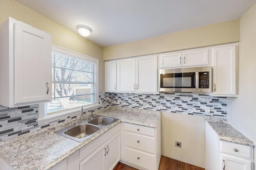
<path fill-rule="evenodd" d="M 44 106 L 42 106 L 42 107 L 44 107 Z M 83 108 L 84 108 L 84 111 L 88 111 L 88 110 L 91 110 L 91 109 L 97 109 L 98 107 L 100 107 L 100 105 L 95 104 L 95 105 L 91 105 L 91 106 L 83 107 Z M 80 108 L 73 109 L 73 110 L 70 110 L 70 111 L 63 111 L 62 113 L 58 113 L 58 114 L 55 114 L 55 115 L 45 115 L 45 117 L 38 118 L 38 124 L 41 125 L 41 124 L 44 124 L 44 123 L 53 122 L 54 120 L 60 121 L 61 119 L 67 119 L 68 116 L 71 117 L 72 115 L 77 115 L 79 113 L 80 113 Z"/>

